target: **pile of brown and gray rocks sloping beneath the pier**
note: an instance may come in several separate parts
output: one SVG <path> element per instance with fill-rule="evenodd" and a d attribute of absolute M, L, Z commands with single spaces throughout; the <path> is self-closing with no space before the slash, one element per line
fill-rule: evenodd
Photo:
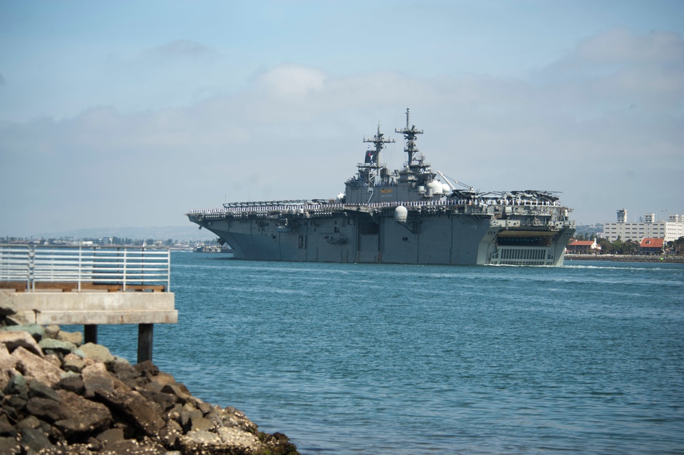
<path fill-rule="evenodd" d="M 0 327 L 0 454 L 299 454 L 235 408 L 194 398 L 58 326 Z"/>

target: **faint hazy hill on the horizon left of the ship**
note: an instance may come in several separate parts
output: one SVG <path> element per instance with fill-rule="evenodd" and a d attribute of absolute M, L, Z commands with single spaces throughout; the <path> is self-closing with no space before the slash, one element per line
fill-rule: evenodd
<path fill-rule="evenodd" d="M 120 237 L 129 239 L 155 240 L 187 240 L 198 242 L 216 239 L 216 234 L 206 229 L 197 229 L 194 224 L 187 226 L 151 226 L 151 227 L 118 227 L 118 228 L 90 228 L 74 229 L 73 231 L 47 232 L 31 236 L 34 239 L 99 239 L 103 237 Z"/>

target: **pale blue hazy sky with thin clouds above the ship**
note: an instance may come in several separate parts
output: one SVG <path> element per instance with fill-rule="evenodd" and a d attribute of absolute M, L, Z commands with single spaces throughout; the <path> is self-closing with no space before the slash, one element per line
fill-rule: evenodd
<path fill-rule="evenodd" d="M 378 123 L 579 224 L 684 214 L 684 1 L 0 0 L 0 236 L 331 198 Z"/>

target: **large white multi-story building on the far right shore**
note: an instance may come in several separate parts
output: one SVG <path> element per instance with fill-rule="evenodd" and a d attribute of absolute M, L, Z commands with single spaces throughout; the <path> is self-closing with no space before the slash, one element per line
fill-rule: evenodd
<path fill-rule="evenodd" d="M 655 213 L 646 213 L 644 221 L 628 222 L 626 209 L 618 210 L 617 222 L 603 223 L 603 235 L 609 241 L 633 240 L 641 242 L 644 237 L 665 239 L 672 242 L 684 236 L 684 215 L 670 215 L 669 220 L 655 220 Z"/>

